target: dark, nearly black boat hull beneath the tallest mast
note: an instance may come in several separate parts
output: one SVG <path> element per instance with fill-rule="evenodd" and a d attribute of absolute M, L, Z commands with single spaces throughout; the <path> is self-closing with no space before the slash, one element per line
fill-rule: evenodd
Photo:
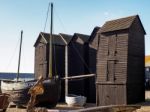
<path fill-rule="evenodd" d="M 43 82 L 44 94 L 38 95 L 36 106 L 52 108 L 55 107 L 61 95 L 60 79 L 45 80 Z"/>

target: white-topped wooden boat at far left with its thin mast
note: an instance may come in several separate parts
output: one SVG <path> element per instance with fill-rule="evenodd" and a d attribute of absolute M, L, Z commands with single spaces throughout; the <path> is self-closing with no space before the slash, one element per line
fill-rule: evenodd
<path fill-rule="evenodd" d="M 34 85 L 36 80 L 21 81 L 20 77 L 20 61 L 21 61 L 21 48 L 22 48 L 22 36 L 23 31 L 21 31 L 20 38 L 20 49 L 19 49 L 19 59 L 18 59 L 18 72 L 16 80 L 2 80 L 1 81 L 1 91 L 10 95 L 10 101 L 14 102 L 18 106 L 27 104 L 30 95 L 28 95 L 29 88 Z"/>

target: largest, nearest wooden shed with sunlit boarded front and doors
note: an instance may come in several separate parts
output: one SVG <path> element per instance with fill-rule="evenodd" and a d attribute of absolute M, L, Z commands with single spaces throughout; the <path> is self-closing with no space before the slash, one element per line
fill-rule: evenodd
<path fill-rule="evenodd" d="M 99 30 L 97 105 L 145 100 L 144 27 L 138 15 L 107 21 Z"/>

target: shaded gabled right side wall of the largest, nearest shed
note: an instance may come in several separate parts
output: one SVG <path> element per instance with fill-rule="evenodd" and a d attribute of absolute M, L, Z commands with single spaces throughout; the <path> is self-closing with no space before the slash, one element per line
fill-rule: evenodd
<path fill-rule="evenodd" d="M 144 32 L 138 24 L 139 22 L 139 19 L 136 18 L 130 28 L 129 34 L 127 79 L 128 103 L 136 103 L 145 100 L 145 40 L 143 35 Z M 135 96 L 134 93 L 138 94 Z"/>

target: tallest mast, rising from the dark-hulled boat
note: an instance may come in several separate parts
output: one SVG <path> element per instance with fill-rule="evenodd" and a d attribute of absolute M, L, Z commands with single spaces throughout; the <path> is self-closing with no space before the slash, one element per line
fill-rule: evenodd
<path fill-rule="evenodd" d="M 52 37 L 53 36 L 53 3 L 51 3 L 51 23 L 50 23 L 50 39 L 49 39 L 49 77 L 52 78 Z"/>

